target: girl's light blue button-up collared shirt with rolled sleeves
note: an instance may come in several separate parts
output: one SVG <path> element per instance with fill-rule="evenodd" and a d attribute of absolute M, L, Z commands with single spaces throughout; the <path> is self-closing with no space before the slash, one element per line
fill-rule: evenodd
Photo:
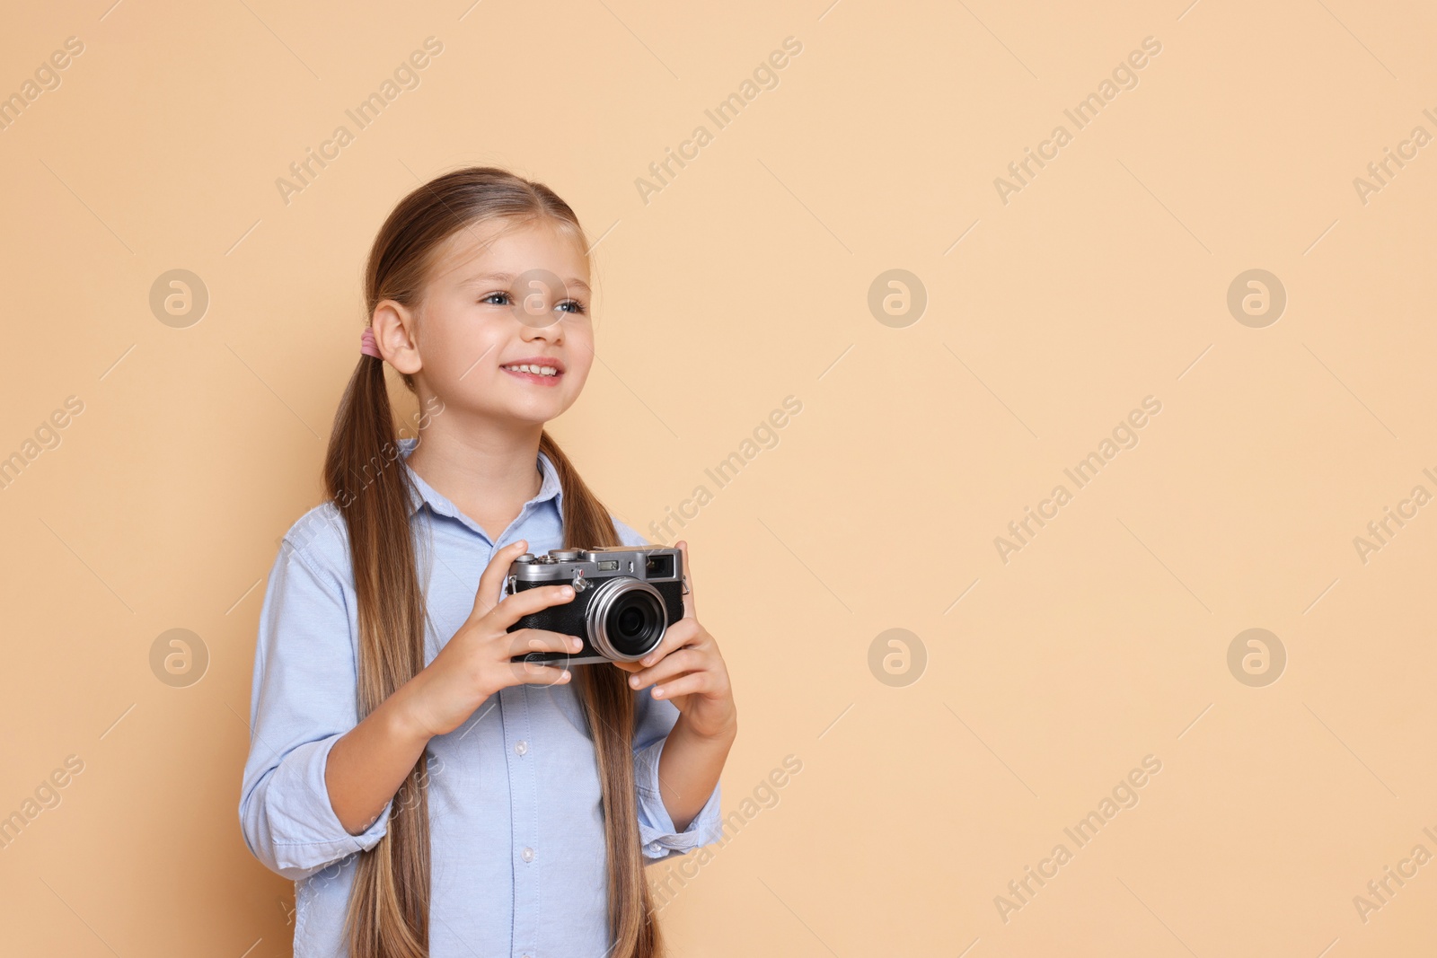
<path fill-rule="evenodd" d="M 420 493 L 410 523 L 420 583 L 428 583 L 428 664 L 473 610 L 480 573 L 496 549 L 517 539 L 527 540 L 536 554 L 563 546 L 563 493 L 553 464 L 540 452 L 539 494 L 491 543 L 410 468 L 405 460 L 415 444 L 401 440 L 404 458 L 385 468 L 407 470 Z M 625 546 L 650 544 L 624 523 L 614 524 Z M 250 852 L 296 882 L 295 958 L 348 954 L 343 919 L 356 853 L 384 837 L 394 801 L 354 836 L 335 816 L 325 787 L 329 750 L 359 721 L 358 635 L 348 530 L 331 501 L 290 527 L 269 575 L 240 793 L 240 824 Z M 660 797 L 658 757 L 678 710 L 652 698 L 651 689 L 634 692 L 634 778 L 645 860 L 717 842 L 717 786 L 683 832 L 674 829 Z M 463 725 L 433 738 L 430 754 L 430 955 L 604 955 L 612 941 L 601 786 L 573 684 L 504 688 Z"/>

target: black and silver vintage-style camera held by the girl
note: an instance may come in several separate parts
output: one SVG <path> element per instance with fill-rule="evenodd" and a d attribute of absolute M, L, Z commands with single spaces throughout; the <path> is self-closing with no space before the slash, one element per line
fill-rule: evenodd
<path fill-rule="evenodd" d="M 573 586 L 573 599 L 526 615 L 509 626 L 546 629 L 583 639 L 575 655 L 529 652 L 513 662 L 583 665 L 637 662 L 660 643 L 664 632 L 684 618 L 684 553 L 678 549 L 552 549 L 546 556 L 525 553 L 509 566 L 504 593 L 537 586 Z"/>

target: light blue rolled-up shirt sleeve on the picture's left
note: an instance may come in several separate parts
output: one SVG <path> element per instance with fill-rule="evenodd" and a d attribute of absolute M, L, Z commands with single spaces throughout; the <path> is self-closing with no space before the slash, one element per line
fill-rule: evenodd
<path fill-rule="evenodd" d="M 354 593 L 326 563 L 286 537 L 260 610 L 250 702 L 250 753 L 240 827 L 270 870 L 299 880 L 374 847 L 394 800 L 361 834 L 349 834 L 329 801 L 329 750 L 358 724 Z"/>

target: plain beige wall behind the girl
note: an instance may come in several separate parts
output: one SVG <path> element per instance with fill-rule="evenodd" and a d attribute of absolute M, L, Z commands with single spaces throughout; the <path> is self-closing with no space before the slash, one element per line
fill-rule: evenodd
<path fill-rule="evenodd" d="M 368 244 L 464 164 L 604 237 L 602 365 L 553 429 L 627 521 L 803 404 L 685 530 L 741 710 L 726 811 L 803 770 L 688 866 L 675 954 L 1437 944 L 1437 865 L 1354 905 L 1437 853 L 1437 507 L 1354 546 L 1437 493 L 1437 147 L 1365 204 L 1352 182 L 1437 134 L 1426 4 L 109 3 L 0 33 L 6 95 L 85 45 L 0 132 L 0 455 L 83 402 L 0 491 L 0 814 L 83 761 L 0 850 L 6 954 L 289 954 L 292 885 L 237 822 L 262 577 L 319 501 Z M 421 85 L 286 205 L 274 180 L 428 36 Z M 716 129 L 787 36 L 777 88 Z M 1075 132 L 1063 109 L 1148 36 Z M 1072 142 L 1002 203 L 1058 124 Z M 697 125 L 713 142 L 645 204 Z M 184 329 L 148 304 L 171 269 L 210 294 Z M 905 327 L 868 307 L 891 269 L 927 292 Z M 1250 269 L 1288 293 L 1262 329 L 1226 304 Z M 1148 395 L 1140 444 L 1004 564 L 993 539 Z M 210 655 L 185 688 L 149 666 L 172 628 Z M 892 628 L 927 655 L 905 687 L 868 665 Z M 1249 628 L 1286 649 L 1275 684 L 1229 671 Z M 1065 826 L 1150 754 L 1076 849 Z"/>

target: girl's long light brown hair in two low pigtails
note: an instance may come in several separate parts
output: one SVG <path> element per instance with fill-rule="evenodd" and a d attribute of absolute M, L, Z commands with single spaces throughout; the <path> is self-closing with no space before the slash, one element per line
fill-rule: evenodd
<path fill-rule="evenodd" d="M 477 221 L 547 218 L 582 246 L 579 220 L 542 182 L 506 169 L 473 167 L 433 180 L 407 195 L 385 220 L 369 251 L 365 304 L 391 299 L 417 307 L 435 248 Z M 424 595 L 410 529 L 408 470 L 395 461 L 397 438 L 384 362 L 361 355 L 335 415 L 325 455 L 325 485 L 349 529 L 359 603 L 359 715 L 364 718 L 424 668 Z M 414 381 L 402 375 L 414 392 Z M 608 510 L 545 431 L 539 448 L 563 490 L 563 541 L 616 546 Z M 371 477 L 372 473 L 372 477 Z M 359 480 L 364 490 L 352 491 Z M 604 789 L 608 850 L 608 921 L 614 958 L 660 958 L 657 912 L 644 878 L 634 790 L 634 698 L 615 668 L 573 669 L 593 738 Z M 352 958 L 427 958 L 430 919 L 430 750 L 415 761 L 391 806 L 385 836 L 359 853 L 346 928 Z M 484 908 L 476 902 L 476 908 Z"/>

